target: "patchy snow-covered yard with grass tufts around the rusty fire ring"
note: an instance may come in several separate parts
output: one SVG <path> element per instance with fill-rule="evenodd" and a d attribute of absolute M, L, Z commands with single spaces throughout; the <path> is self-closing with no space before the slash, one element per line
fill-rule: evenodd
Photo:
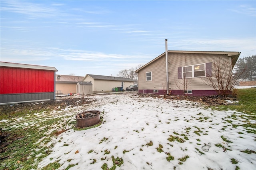
<path fill-rule="evenodd" d="M 88 130 L 70 130 L 56 136 L 52 152 L 38 165 L 58 160 L 59 169 L 101 170 L 253 170 L 256 135 L 245 124 L 250 115 L 215 111 L 198 103 L 136 93 L 90 96 L 89 110 L 102 111 L 103 123 Z M 75 121 L 80 108 L 54 111 L 65 121 Z M 242 116 L 241 116 L 242 115 Z M 74 125 L 74 124 L 73 124 Z M 255 130 L 255 129 L 254 129 Z M 243 151 L 243 152 L 241 152 Z"/>

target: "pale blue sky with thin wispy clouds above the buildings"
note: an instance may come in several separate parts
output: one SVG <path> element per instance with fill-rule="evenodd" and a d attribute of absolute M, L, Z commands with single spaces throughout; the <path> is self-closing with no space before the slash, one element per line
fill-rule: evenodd
<path fill-rule="evenodd" d="M 117 75 L 168 50 L 256 55 L 256 1 L 1 0 L 1 61 Z"/>

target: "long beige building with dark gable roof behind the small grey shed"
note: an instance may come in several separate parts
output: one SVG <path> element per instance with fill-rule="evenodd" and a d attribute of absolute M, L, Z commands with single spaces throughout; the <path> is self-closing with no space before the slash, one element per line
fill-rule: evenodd
<path fill-rule="evenodd" d="M 114 77 L 105 75 L 93 75 L 86 74 L 82 81 L 92 83 L 92 93 L 105 93 L 111 92 L 115 87 L 122 87 L 124 90 L 126 87 L 133 85 L 135 80 L 124 78 L 124 77 Z"/>

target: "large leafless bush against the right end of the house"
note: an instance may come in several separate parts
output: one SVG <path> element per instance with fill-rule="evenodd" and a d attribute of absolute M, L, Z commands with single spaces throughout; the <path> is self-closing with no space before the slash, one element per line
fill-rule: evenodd
<path fill-rule="evenodd" d="M 206 79 L 208 81 L 203 82 L 211 86 L 218 95 L 226 97 L 230 95 L 234 86 L 239 83 L 245 70 L 246 68 L 239 72 L 235 71 L 228 60 L 224 61 L 219 58 L 218 60 L 212 61 L 212 71 L 206 71 Z"/>

